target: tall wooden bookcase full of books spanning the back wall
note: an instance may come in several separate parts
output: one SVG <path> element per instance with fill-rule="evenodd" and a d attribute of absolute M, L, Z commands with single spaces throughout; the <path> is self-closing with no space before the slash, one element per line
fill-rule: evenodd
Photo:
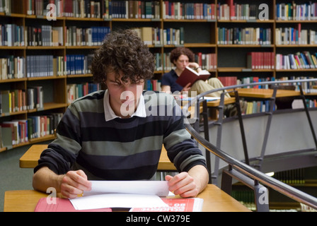
<path fill-rule="evenodd" d="M 263 14 L 265 8 L 258 9 L 260 3 L 246 0 L 0 1 L 1 92 L 24 91 L 25 100 L 28 88 L 42 87 L 44 93 L 41 107 L 28 108 L 26 101 L 26 108 L 3 111 L 0 122 L 62 114 L 71 100 L 89 92 L 93 51 L 106 33 L 119 28 L 137 30 L 156 56 L 156 71 L 153 82 L 147 84 L 149 89 L 158 89 L 163 73 L 171 70 L 168 54 L 178 46 L 192 49 L 199 64 L 212 76 L 233 77 L 230 81 L 234 82 L 244 78 L 256 81 L 316 77 L 317 64 L 298 69 L 276 66 L 278 54 L 283 59 L 297 52 L 317 52 L 317 40 L 313 39 L 316 14 L 305 17 L 300 13 L 316 8 L 316 4 L 308 8 L 306 1 L 293 2 L 295 10 L 286 0 L 263 0 L 261 4 L 267 6 L 267 13 Z M 56 6 L 56 20 L 52 8 L 46 8 L 49 3 Z M 285 34 L 296 37 L 299 28 L 303 42 L 291 39 L 288 43 Z M 8 37 L 4 35 L 6 30 Z M 285 38 L 277 43 L 280 33 Z M 262 56 L 263 60 L 258 59 L 258 66 L 252 69 L 255 56 Z M 4 61 L 10 62 L 13 71 L 5 70 Z"/>

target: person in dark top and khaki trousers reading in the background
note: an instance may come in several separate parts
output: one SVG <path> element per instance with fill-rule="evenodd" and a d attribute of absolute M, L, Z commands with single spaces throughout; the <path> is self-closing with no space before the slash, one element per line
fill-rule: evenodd
<path fill-rule="evenodd" d="M 195 91 L 197 95 L 199 95 L 209 90 L 224 87 L 218 78 L 209 78 L 207 81 L 198 80 L 194 84 L 188 83 L 185 87 L 176 83 L 176 80 L 186 66 L 196 70 L 197 72 L 202 70 L 200 66 L 195 63 L 195 54 L 186 47 L 177 47 L 173 49 L 171 51 L 170 61 L 175 66 L 175 69 L 163 74 L 161 81 L 161 88 L 163 92 L 174 93 L 175 91 L 180 91 L 183 93 L 184 91 L 188 91 L 188 94 L 190 95 L 191 91 Z M 222 91 L 218 91 L 216 93 L 209 93 L 207 96 L 220 97 L 221 93 Z M 230 97 L 230 95 L 226 93 L 225 97 Z"/>

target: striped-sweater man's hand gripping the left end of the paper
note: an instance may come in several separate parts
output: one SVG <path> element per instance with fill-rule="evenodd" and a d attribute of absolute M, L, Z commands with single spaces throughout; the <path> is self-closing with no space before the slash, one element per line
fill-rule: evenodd
<path fill-rule="evenodd" d="M 69 171 L 62 176 L 61 193 L 67 198 L 76 198 L 83 191 L 91 190 L 86 174 L 82 170 Z"/>

